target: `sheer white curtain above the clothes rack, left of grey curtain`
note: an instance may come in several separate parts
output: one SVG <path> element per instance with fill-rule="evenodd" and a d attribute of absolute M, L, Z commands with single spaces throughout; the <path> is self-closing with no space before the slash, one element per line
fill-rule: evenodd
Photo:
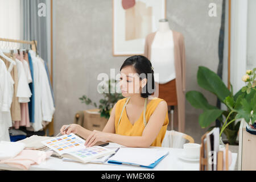
<path fill-rule="evenodd" d="M 0 38 L 20 39 L 22 23 L 20 23 L 20 0 L 0 0 Z M 0 42 L 1 48 L 20 46 L 19 44 Z"/>

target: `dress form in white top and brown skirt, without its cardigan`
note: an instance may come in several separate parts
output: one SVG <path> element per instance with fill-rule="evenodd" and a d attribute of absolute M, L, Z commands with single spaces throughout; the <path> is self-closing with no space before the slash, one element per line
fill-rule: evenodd
<path fill-rule="evenodd" d="M 151 63 L 159 80 L 155 82 L 155 96 L 163 98 L 168 106 L 177 105 L 174 40 L 167 19 L 159 20 L 159 30 L 156 32 L 151 46 Z M 171 107 L 171 130 L 174 130 L 174 107 Z"/>

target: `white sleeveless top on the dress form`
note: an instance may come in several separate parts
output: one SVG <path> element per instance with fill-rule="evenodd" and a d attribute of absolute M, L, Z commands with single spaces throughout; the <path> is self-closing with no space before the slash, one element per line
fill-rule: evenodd
<path fill-rule="evenodd" d="M 154 75 L 158 74 L 159 84 L 166 84 L 174 80 L 174 39 L 172 31 L 159 32 L 155 34 L 155 38 L 151 45 L 151 63 L 154 68 Z M 156 77 L 157 78 L 157 77 Z"/>

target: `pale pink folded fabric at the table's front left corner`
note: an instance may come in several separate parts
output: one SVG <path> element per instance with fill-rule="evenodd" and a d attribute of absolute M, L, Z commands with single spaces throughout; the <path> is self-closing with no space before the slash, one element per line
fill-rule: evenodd
<path fill-rule="evenodd" d="M 13 159 L 1 160 L 0 164 L 8 164 L 19 169 L 28 170 L 33 164 L 44 162 L 53 151 L 22 150 Z"/>

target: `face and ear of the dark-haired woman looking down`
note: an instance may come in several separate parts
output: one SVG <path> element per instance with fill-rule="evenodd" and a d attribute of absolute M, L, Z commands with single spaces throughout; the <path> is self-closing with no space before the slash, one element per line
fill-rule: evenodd
<path fill-rule="evenodd" d="M 147 79 L 141 80 L 133 66 L 127 66 L 120 72 L 120 89 L 123 97 L 130 97 L 134 94 L 140 94 Z"/>

